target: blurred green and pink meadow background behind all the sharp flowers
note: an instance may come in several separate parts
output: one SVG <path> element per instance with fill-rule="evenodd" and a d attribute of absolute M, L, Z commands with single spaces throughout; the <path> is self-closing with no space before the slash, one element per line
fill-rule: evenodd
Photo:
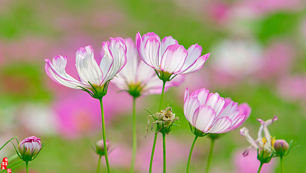
<path fill-rule="evenodd" d="M 44 59 L 67 55 L 66 71 L 77 77 L 75 52 L 90 44 L 95 56 L 109 37 L 135 39 L 136 32 L 173 36 L 186 48 L 198 43 L 211 55 L 203 68 L 186 75 L 165 93 L 181 127 L 167 136 L 167 171 L 184 173 L 194 138 L 183 113 L 183 93 L 206 87 L 252 113 L 243 124 L 251 136 L 274 115 L 276 139 L 301 146 L 284 158 L 287 173 L 305 173 L 306 155 L 306 1 L 304 0 L 0 0 L 0 145 L 13 136 L 36 135 L 45 147 L 30 163 L 30 173 L 92 173 L 101 139 L 99 102 L 87 93 L 58 85 L 45 73 Z M 203 54 L 202 53 L 202 54 Z M 132 97 L 110 84 L 103 98 L 113 173 L 127 173 L 131 162 Z M 159 95 L 137 100 L 136 172 L 148 172 L 154 130 L 146 135 L 148 113 L 157 112 Z M 166 104 L 165 104 L 166 106 Z M 158 135 L 153 172 L 162 172 Z M 203 173 L 210 140 L 195 145 L 190 172 Z M 219 138 L 211 173 L 247 173 L 241 158 L 249 143 L 239 129 Z M 0 158 L 15 154 L 9 144 Z M 255 158 L 255 159 L 254 159 Z M 252 160 L 249 163 L 245 160 Z M 245 164 L 242 164 L 244 163 Z M 103 173 L 105 163 L 101 162 Z M 263 167 L 279 173 L 279 160 Z M 244 169 L 245 170 L 245 169 Z M 21 166 L 13 173 L 24 173 Z M 249 172 L 248 172 L 249 173 Z M 253 172 L 250 172 L 253 173 Z M 262 171 L 262 173 L 264 173 Z"/>

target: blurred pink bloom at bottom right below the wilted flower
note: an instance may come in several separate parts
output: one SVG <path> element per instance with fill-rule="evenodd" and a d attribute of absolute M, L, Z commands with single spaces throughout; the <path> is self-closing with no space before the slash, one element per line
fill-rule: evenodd
<path fill-rule="evenodd" d="M 238 150 L 233 155 L 234 162 L 234 173 L 257 173 L 260 166 L 260 161 L 257 159 L 257 151 L 252 150 L 249 155 L 244 157 L 243 151 Z M 273 173 L 274 160 L 272 159 L 269 163 L 263 164 L 261 173 Z"/>

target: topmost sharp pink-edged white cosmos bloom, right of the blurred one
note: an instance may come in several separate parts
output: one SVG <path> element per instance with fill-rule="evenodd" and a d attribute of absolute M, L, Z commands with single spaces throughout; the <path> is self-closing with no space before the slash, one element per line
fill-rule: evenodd
<path fill-rule="evenodd" d="M 141 37 L 136 34 L 136 47 L 139 56 L 152 68 L 170 74 L 188 74 L 199 70 L 210 53 L 201 56 L 202 47 L 191 45 L 188 50 L 179 45 L 172 36 L 162 41 L 155 33 L 147 33 Z"/>

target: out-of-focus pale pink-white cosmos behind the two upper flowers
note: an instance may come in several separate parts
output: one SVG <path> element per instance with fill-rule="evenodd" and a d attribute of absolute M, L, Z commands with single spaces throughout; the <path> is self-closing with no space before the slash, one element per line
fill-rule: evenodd
<path fill-rule="evenodd" d="M 143 61 L 138 60 L 138 53 L 135 43 L 131 38 L 125 39 L 127 45 L 127 64 L 118 73 L 118 78 L 112 82 L 122 90 L 128 91 L 132 96 L 138 97 L 140 95 L 160 94 L 162 92 L 163 82 L 157 77 L 154 70 L 146 65 Z M 166 84 L 165 89 L 169 87 L 178 86 L 183 77 L 179 80 L 170 81 Z"/>

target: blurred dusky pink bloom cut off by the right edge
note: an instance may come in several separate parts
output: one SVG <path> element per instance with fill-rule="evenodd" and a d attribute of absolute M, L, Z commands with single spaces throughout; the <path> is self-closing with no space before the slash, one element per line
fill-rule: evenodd
<path fill-rule="evenodd" d="M 285 99 L 306 100 L 306 76 L 280 78 L 277 88 L 279 94 Z"/>

